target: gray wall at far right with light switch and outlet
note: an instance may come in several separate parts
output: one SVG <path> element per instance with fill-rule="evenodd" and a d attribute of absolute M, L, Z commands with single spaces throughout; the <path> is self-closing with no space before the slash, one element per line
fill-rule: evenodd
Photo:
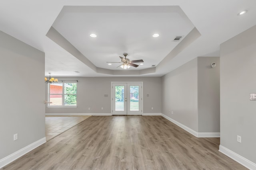
<path fill-rule="evenodd" d="M 222 43 L 220 62 L 220 145 L 256 163 L 256 26 Z"/>

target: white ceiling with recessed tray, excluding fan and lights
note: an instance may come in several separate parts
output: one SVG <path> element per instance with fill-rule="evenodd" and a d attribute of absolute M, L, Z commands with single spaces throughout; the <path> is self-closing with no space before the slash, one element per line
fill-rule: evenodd
<path fill-rule="evenodd" d="M 242 10 L 248 12 L 238 16 Z M 195 57 L 218 57 L 221 43 L 253 25 L 254 0 L 8 0 L 0 6 L 0 30 L 45 52 L 45 74 L 52 76 L 162 76 Z M 46 36 L 51 27 L 70 47 Z M 174 42 L 176 35 L 184 38 Z M 123 53 L 144 65 L 107 65 Z"/>

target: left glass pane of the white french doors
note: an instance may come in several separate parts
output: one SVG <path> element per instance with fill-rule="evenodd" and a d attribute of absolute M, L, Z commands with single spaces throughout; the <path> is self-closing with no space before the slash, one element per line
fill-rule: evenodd
<path fill-rule="evenodd" d="M 124 86 L 115 86 L 116 111 L 124 111 Z"/>

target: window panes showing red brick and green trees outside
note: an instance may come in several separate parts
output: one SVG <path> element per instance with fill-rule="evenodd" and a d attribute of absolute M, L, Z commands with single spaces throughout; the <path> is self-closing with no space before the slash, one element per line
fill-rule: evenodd
<path fill-rule="evenodd" d="M 76 83 L 49 84 L 48 106 L 76 106 Z"/>

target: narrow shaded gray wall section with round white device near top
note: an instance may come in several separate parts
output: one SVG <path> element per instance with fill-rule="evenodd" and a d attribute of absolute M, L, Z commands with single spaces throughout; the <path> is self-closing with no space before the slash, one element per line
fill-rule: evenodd
<path fill-rule="evenodd" d="M 220 133 L 220 57 L 198 57 L 198 132 Z"/>

